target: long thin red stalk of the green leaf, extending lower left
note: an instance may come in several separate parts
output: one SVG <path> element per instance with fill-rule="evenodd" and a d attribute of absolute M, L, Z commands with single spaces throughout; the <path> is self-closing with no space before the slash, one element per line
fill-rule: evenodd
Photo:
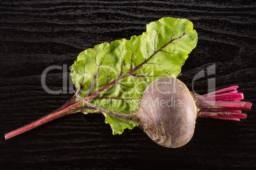
<path fill-rule="evenodd" d="M 64 115 L 67 115 L 68 112 L 73 110 L 74 107 L 76 107 L 82 103 L 82 101 L 78 101 L 77 103 L 70 105 L 74 101 L 74 99 L 75 99 L 74 97 L 71 98 L 71 100 L 69 100 L 62 107 L 58 108 L 57 110 L 53 111 L 52 113 L 45 115 L 44 117 L 41 117 L 40 119 L 38 119 L 34 122 L 31 122 L 30 124 L 22 126 L 21 128 L 15 129 L 14 131 L 4 134 L 5 139 L 8 140 L 14 136 L 17 136 L 18 134 L 22 134 L 26 131 L 29 131 L 38 126 L 41 126 L 41 125 L 45 124 L 46 122 L 50 122 L 50 121 L 53 121 L 54 119 L 57 119 Z"/>

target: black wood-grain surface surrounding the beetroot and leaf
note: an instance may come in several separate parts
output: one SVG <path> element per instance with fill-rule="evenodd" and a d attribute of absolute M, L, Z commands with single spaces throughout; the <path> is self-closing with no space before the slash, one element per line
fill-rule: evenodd
<path fill-rule="evenodd" d="M 199 36 L 179 78 L 192 90 L 194 75 L 216 64 L 195 91 L 206 93 L 208 78 L 217 89 L 238 85 L 254 103 L 247 119 L 198 119 L 192 140 L 176 149 L 139 128 L 113 136 L 103 115 L 81 113 L 4 140 L 73 96 L 46 93 L 43 70 L 71 66 L 81 51 L 138 36 L 164 16 L 187 18 Z M 255 169 L 255 18 L 253 1 L 1 1 L 0 169 Z M 48 88 L 62 89 L 62 75 L 49 72 Z"/>

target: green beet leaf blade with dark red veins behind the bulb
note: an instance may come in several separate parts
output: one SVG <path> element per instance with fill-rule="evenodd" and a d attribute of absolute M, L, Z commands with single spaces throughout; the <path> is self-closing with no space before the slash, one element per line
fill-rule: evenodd
<path fill-rule="evenodd" d="M 72 65 L 72 80 L 85 100 L 113 112 L 131 114 L 150 82 L 176 77 L 188 54 L 196 47 L 197 33 L 185 19 L 161 18 L 146 25 L 141 36 L 104 42 L 78 55 Z M 85 114 L 99 112 L 85 105 Z M 104 114 L 113 134 L 139 124 Z"/>

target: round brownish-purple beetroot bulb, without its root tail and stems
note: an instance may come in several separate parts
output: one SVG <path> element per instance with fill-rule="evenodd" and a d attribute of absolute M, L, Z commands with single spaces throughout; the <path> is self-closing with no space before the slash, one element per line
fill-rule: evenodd
<path fill-rule="evenodd" d="M 145 133 L 164 147 L 185 145 L 194 134 L 197 108 L 183 82 L 172 77 L 153 81 L 138 112 Z"/>

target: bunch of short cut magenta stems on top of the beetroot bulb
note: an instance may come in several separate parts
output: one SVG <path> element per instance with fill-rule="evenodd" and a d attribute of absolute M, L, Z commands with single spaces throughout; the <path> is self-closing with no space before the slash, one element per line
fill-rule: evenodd
<path fill-rule="evenodd" d="M 226 119 L 240 121 L 246 114 L 241 110 L 250 110 L 252 103 L 243 100 L 243 93 L 238 93 L 238 86 L 213 91 L 206 95 L 198 96 L 196 105 L 199 107 L 197 117 Z"/>

